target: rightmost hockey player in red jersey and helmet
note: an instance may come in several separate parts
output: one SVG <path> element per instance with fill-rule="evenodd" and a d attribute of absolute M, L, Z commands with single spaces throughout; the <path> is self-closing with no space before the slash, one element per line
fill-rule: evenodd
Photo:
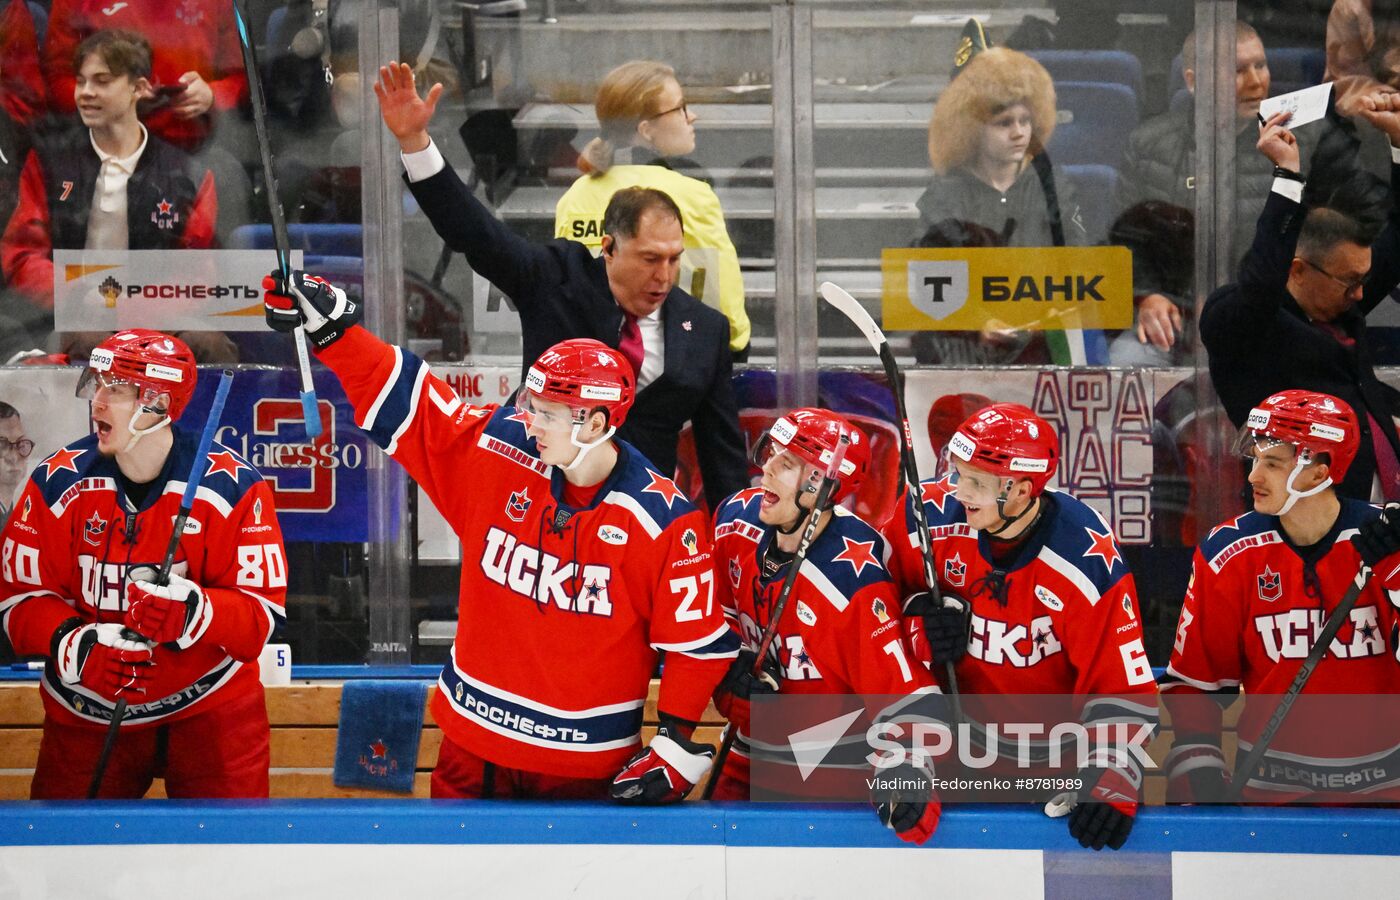
<path fill-rule="evenodd" d="M 1337 398 L 1284 391 L 1259 405 L 1236 449 L 1252 462 L 1254 511 L 1197 547 L 1162 700 L 1176 740 L 1168 799 L 1225 799 L 1222 710 L 1245 690 L 1242 756 L 1278 707 L 1362 561 L 1371 579 L 1322 656 L 1242 798 L 1394 801 L 1400 719 L 1376 696 L 1400 694 L 1394 600 L 1400 533 L 1371 504 L 1337 495 L 1361 430 Z M 1387 514 L 1392 511 L 1387 509 Z M 1387 642 L 1389 641 L 1389 642 Z M 1368 694 L 1347 697 L 1347 694 Z M 1236 773 L 1236 777 L 1245 777 Z"/>

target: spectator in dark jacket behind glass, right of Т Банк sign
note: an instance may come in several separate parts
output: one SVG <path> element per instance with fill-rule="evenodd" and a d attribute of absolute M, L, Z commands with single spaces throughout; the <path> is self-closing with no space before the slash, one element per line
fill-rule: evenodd
<path fill-rule="evenodd" d="M 1196 95 L 1196 32 L 1182 45 L 1182 76 Z M 1243 255 L 1254 223 L 1268 196 L 1273 164 L 1254 150 L 1259 139 L 1259 104 L 1268 97 L 1270 73 L 1264 45 L 1246 22 L 1235 22 L 1235 253 Z M 1114 365 L 1172 365 L 1177 361 L 1186 315 L 1194 300 L 1189 259 L 1176 255 L 1183 223 L 1194 235 L 1196 210 L 1196 111 L 1193 104 L 1148 119 L 1128 136 L 1119 181 L 1126 211 L 1113 232 L 1133 251 L 1133 288 L 1137 321 L 1131 332 L 1114 339 Z M 1161 206 L 1151 206 L 1152 202 Z M 1159 231 L 1170 239 L 1156 239 Z M 1191 238 L 1194 239 L 1194 238 Z"/>

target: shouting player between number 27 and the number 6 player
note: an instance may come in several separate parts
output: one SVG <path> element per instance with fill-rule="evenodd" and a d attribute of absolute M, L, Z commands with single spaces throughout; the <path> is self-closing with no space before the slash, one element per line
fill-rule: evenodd
<path fill-rule="evenodd" d="M 830 505 L 813 509 L 818 486 L 840 437 L 850 438 Z M 715 515 L 715 579 L 745 649 L 715 693 L 736 729 L 715 799 L 749 799 L 749 700 L 756 693 L 913 694 L 935 691 L 928 672 L 906 658 L 899 598 L 885 568 L 885 540 L 836 505 L 855 493 L 869 466 L 869 441 L 840 416 L 798 409 L 780 416 L 755 449 L 759 487 L 739 491 Z M 753 662 L 808 516 L 820 518 L 783 609 L 760 675 Z M 938 827 L 937 795 L 879 806 L 885 824 L 923 843 Z"/>

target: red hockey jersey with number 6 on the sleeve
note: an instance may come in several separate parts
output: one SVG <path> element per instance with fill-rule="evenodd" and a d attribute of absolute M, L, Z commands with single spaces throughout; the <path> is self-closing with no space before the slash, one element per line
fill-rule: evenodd
<path fill-rule="evenodd" d="M 956 666 L 970 719 L 1120 722 L 1128 731 L 1112 732 L 1114 740 L 1155 728 L 1156 682 L 1137 588 L 1113 529 L 1092 507 L 1046 491 L 1040 521 L 998 567 L 988 536 L 967 525 L 948 479 L 924 481 L 921 500 L 938 588 L 972 605 L 967 654 Z M 890 571 L 907 598 L 928 588 L 907 497 L 903 505 L 885 535 Z M 944 677 L 938 668 L 934 675 Z M 1114 767 L 1141 775 L 1140 760 Z"/>

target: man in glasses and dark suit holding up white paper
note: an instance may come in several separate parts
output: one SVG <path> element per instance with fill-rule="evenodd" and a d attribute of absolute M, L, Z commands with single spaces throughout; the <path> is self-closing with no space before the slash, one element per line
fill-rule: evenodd
<path fill-rule="evenodd" d="M 1400 206 L 1372 241 L 1338 209 L 1303 206 L 1305 175 L 1287 112 L 1270 118 L 1259 151 L 1274 182 L 1239 281 L 1218 288 L 1201 314 L 1211 381 L 1235 427 L 1266 398 L 1291 388 L 1344 400 L 1361 447 L 1338 486 L 1344 497 L 1400 500 L 1400 396 L 1376 378 L 1366 314 L 1400 283 Z M 1361 115 L 1392 147 L 1390 189 L 1400 197 L 1400 95 L 1362 99 Z"/>

